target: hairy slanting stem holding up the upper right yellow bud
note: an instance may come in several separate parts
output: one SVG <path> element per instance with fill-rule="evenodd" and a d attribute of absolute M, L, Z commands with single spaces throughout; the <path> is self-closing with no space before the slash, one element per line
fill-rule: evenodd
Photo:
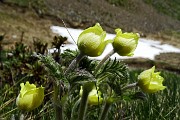
<path fill-rule="evenodd" d="M 114 49 L 111 50 L 100 62 L 99 64 L 96 66 L 94 74 L 96 74 L 98 72 L 98 70 L 102 67 L 102 65 L 104 64 L 104 62 L 106 62 L 106 60 L 108 58 L 110 58 L 113 54 L 115 53 Z"/>

